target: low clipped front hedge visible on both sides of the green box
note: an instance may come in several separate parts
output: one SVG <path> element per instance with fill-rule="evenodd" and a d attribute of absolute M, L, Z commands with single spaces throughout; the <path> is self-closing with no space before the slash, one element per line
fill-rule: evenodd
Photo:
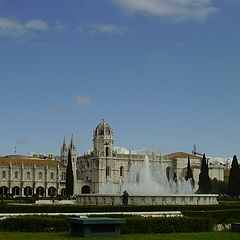
<path fill-rule="evenodd" d="M 124 217 L 123 217 L 124 218 Z M 170 233 L 212 231 L 213 222 L 209 218 L 155 218 L 128 217 L 121 226 L 122 233 Z M 65 216 L 24 216 L 6 218 L 0 221 L 0 231 L 21 232 L 63 232 L 69 231 Z"/>

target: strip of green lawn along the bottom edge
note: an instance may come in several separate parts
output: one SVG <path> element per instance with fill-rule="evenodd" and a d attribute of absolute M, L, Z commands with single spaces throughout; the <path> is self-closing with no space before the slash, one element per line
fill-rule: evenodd
<path fill-rule="evenodd" d="M 22 233 L 0 232 L 0 240 L 67 240 L 67 239 L 113 239 L 113 237 L 79 238 L 68 233 Z M 233 232 L 210 232 L 210 233 L 171 233 L 171 234 L 127 234 L 114 238 L 126 240 L 239 240 L 240 233 Z"/>

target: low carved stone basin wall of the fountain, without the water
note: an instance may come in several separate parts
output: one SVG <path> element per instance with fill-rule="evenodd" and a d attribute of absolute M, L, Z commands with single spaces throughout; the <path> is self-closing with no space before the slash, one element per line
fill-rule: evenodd
<path fill-rule="evenodd" d="M 129 196 L 128 205 L 215 205 L 217 194 L 172 194 L 164 196 Z M 83 194 L 76 196 L 79 205 L 122 205 L 121 195 Z"/>

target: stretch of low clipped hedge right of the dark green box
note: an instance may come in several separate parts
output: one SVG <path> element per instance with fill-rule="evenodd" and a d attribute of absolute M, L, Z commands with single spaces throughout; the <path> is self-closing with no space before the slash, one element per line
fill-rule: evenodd
<path fill-rule="evenodd" d="M 122 225 L 122 233 L 173 233 L 212 231 L 213 222 L 208 218 L 156 218 L 130 217 Z"/>

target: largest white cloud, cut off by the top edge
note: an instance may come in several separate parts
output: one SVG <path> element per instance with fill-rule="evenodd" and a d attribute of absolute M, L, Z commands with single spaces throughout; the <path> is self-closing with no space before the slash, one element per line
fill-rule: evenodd
<path fill-rule="evenodd" d="M 213 0 L 110 0 L 131 12 L 143 12 L 174 21 L 204 21 L 219 11 Z"/>

